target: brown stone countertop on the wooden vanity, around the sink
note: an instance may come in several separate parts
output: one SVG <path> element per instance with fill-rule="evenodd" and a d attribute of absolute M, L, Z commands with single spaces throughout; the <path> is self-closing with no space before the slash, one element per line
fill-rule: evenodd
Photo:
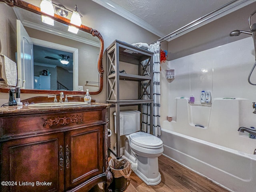
<path fill-rule="evenodd" d="M 0 108 L 1 114 L 32 114 L 42 112 L 64 112 L 64 111 L 78 111 L 78 110 L 93 110 L 97 108 L 109 108 L 111 104 L 92 102 L 84 106 L 59 106 L 59 107 L 41 107 L 41 108 L 28 108 L 28 106 L 3 106 Z"/>

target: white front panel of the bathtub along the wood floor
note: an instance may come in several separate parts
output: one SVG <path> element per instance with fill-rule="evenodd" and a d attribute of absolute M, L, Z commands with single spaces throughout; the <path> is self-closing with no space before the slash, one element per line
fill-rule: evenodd
<path fill-rule="evenodd" d="M 256 155 L 162 128 L 164 155 L 231 192 L 256 192 Z"/>

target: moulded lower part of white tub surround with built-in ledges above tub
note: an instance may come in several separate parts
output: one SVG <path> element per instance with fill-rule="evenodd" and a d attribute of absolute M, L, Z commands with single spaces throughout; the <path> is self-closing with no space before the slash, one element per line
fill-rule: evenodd
<path fill-rule="evenodd" d="M 243 126 L 239 118 L 243 111 L 240 109 L 249 104 L 248 100 L 214 98 L 210 107 L 192 106 L 188 101 L 188 98 L 176 98 L 177 110 L 172 114 L 174 120 L 165 120 L 162 128 L 253 154 L 256 140 L 249 138 L 247 132 L 237 131 Z"/>

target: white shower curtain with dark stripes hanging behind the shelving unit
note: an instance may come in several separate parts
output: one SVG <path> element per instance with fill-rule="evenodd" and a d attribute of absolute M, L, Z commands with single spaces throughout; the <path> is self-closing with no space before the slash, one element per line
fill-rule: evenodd
<path fill-rule="evenodd" d="M 160 42 L 150 44 L 149 51 L 153 52 L 153 134 L 161 138 L 160 126 Z M 146 61 L 142 63 L 146 65 Z M 151 63 L 150 63 L 151 64 Z M 146 75 L 146 74 L 145 74 Z M 147 82 L 144 82 L 144 86 Z M 149 92 L 149 90 L 147 89 Z M 143 99 L 148 99 L 148 95 L 144 94 Z M 150 133 L 150 106 L 142 104 L 142 132 Z"/>

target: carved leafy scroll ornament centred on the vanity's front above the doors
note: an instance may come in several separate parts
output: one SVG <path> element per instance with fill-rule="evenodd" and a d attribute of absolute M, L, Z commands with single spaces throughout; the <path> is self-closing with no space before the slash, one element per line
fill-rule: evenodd
<path fill-rule="evenodd" d="M 43 118 L 44 119 L 44 118 Z M 56 117 L 54 119 L 44 119 L 45 123 L 43 124 L 44 127 L 48 125 L 49 127 L 52 127 L 54 125 L 68 125 L 70 123 L 78 123 L 83 122 L 82 114 L 80 115 L 71 115 L 71 116 L 64 116 L 64 117 Z"/>

